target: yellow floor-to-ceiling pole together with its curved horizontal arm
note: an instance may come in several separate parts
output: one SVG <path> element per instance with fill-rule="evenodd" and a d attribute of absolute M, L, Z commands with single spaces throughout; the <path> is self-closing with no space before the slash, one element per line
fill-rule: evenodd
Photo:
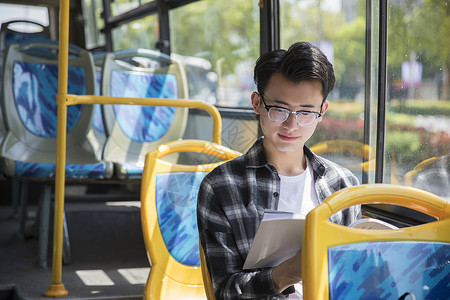
<path fill-rule="evenodd" d="M 52 282 L 44 293 L 46 297 L 64 297 L 69 292 L 62 283 L 62 247 L 63 247 L 63 214 L 66 165 L 66 127 L 67 106 L 76 104 L 135 104 L 151 106 L 189 107 L 206 110 L 213 119 L 213 142 L 221 144 L 222 119 L 215 106 L 205 102 L 187 99 L 161 98 L 123 98 L 92 95 L 67 94 L 69 65 L 69 7 L 70 0 L 60 0 L 60 31 L 59 31 L 59 67 L 56 131 L 56 174 L 55 174 L 55 213 L 53 228 L 53 258 Z"/>

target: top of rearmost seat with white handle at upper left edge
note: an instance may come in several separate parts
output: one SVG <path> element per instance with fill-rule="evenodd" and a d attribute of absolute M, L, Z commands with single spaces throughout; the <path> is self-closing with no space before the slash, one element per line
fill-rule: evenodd
<path fill-rule="evenodd" d="M 12 43 L 38 42 L 50 39 L 50 29 L 30 20 L 13 20 L 2 23 L 0 28 L 0 51 Z"/>

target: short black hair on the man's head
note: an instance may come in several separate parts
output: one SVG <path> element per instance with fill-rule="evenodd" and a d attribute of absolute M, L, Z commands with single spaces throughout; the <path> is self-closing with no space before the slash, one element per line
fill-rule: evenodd
<path fill-rule="evenodd" d="M 323 101 L 334 87 L 333 65 L 325 54 L 308 42 L 292 44 L 288 50 L 274 50 L 258 58 L 254 69 L 254 80 L 259 94 L 263 94 L 270 78 L 281 73 L 294 83 L 318 80 L 322 84 Z"/>

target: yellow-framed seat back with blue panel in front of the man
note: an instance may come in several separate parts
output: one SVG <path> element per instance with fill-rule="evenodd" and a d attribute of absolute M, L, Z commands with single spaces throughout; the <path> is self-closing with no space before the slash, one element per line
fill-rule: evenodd
<path fill-rule="evenodd" d="M 405 206 L 437 221 L 387 230 L 333 224 L 358 204 Z M 342 189 L 306 216 L 304 299 L 448 299 L 450 204 L 429 192 L 393 184 Z"/>

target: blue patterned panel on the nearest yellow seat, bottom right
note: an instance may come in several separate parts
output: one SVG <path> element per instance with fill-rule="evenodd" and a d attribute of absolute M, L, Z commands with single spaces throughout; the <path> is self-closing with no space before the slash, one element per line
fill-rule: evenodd
<path fill-rule="evenodd" d="M 330 299 L 449 299 L 450 244 L 368 242 L 328 249 Z M 407 298 L 409 299 L 409 297 Z M 411 298 L 412 299 L 412 298 Z"/>

